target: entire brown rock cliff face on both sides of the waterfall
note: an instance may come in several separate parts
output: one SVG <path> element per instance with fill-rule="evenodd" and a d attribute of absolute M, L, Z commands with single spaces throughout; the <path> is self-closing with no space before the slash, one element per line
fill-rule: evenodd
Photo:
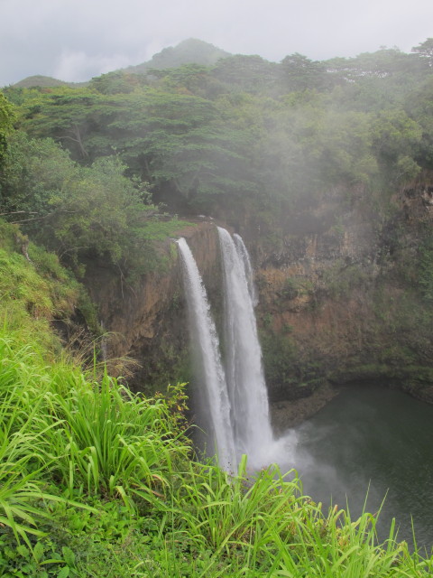
<path fill-rule="evenodd" d="M 281 215 L 276 225 L 257 214 L 227 218 L 253 257 L 273 401 L 317 396 L 329 383 L 351 381 L 403 387 L 433 401 L 431 301 L 419 277 L 420 247 L 431 240 L 431 191 L 403 191 L 392 202 L 389 215 L 379 217 L 362 191 L 350 200 L 334 191 L 316 206 Z M 179 236 L 189 242 L 218 317 L 216 226 L 201 222 Z M 145 391 L 191 378 L 180 259 L 174 242 L 160 250 L 166 265 L 134 287 L 101 266 L 88 273 L 101 320 L 113 332 L 108 358 L 135 359 L 129 381 Z"/>

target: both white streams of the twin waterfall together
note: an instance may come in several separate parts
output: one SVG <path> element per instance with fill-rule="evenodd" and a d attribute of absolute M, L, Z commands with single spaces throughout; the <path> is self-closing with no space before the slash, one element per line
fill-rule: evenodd
<path fill-rule="evenodd" d="M 272 429 L 254 315 L 253 271 L 242 238 L 218 227 L 224 276 L 224 359 L 198 267 L 178 240 L 193 349 L 206 388 L 219 465 L 235 471 L 243 453 L 252 468 L 269 462 Z"/>

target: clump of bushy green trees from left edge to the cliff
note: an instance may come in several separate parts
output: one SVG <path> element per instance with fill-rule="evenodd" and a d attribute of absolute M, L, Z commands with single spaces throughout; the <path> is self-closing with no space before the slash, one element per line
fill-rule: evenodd
<path fill-rule="evenodd" d="M 80 166 L 51 139 L 17 131 L 0 178 L 1 212 L 66 263 L 90 254 L 123 271 L 143 269 L 147 227 L 158 208 L 125 168 L 116 156 Z"/>

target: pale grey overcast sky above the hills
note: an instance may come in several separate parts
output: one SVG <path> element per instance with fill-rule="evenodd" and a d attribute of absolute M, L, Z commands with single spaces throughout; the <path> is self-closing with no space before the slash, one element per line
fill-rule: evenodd
<path fill-rule="evenodd" d="M 281 61 L 355 56 L 433 36 L 433 0 L 0 0 L 0 86 L 88 80 L 190 37 Z"/>

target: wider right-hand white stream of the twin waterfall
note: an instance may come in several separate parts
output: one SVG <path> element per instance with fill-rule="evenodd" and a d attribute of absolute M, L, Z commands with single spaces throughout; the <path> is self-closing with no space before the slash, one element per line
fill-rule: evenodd
<path fill-rule="evenodd" d="M 273 444 L 262 350 L 253 310 L 252 271 L 242 238 L 218 227 L 225 279 L 226 379 L 236 457 L 250 466 L 269 463 Z M 248 283 L 250 281 L 250 283 Z"/>

